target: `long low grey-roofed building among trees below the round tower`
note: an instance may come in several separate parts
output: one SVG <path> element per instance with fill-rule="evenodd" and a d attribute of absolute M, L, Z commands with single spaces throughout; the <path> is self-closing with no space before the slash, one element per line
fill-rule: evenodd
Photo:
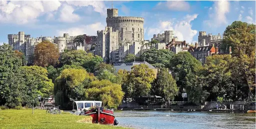
<path fill-rule="evenodd" d="M 156 76 L 157 68 L 155 68 L 151 64 L 147 63 L 146 61 L 135 61 L 135 62 L 131 62 L 131 63 L 115 63 L 115 64 L 113 64 L 113 66 L 115 68 L 115 72 L 118 72 L 118 70 L 120 70 L 120 69 L 126 70 L 126 71 L 131 71 L 131 67 L 132 66 L 139 65 L 139 64 L 147 65 L 150 69 L 153 70 L 153 72 L 154 72 L 154 74 Z"/>

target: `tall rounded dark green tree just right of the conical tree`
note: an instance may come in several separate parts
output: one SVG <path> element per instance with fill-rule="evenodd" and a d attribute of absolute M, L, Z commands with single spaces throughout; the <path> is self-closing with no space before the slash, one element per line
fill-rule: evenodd
<path fill-rule="evenodd" d="M 196 73 L 202 68 L 201 63 L 196 60 L 189 52 L 179 52 L 170 59 L 169 69 L 176 80 L 179 87 L 179 92 L 182 93 L 183 89 L 189 94 L 189 87 L 192 87 L 196 81 Z M 188 99 L 190 97 L 188 96 Z M 181 99 L 181 97 L 179 98 Z M 193 101 L 190 99 L 190 101 Z"/>

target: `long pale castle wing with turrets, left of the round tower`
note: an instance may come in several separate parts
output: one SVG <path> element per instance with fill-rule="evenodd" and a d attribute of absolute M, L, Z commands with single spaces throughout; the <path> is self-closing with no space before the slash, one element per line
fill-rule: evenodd
<path fill-rule="evenodd" d="M 58 49 L 59 53 L 67 50 L 88 50 L 92 43 L 95 43 L 96 36 L 83 35 L 83 42 L 75 43 L 74 38 L 76 36 L 69 36 L 68 33 L 64 33 L 63 36 L 58 37 L 37 37 L 33 38 L 30 35 L 25 35 L 20 31 L 18 34 L 8 34 L 8 44 L 12 46 L 13 50 L 18 50 L 24 53 L 27 63 L 32 63 L 32 56 L 34 53 L 35 45 L 42 41 L 49 41 L 53 43 Z"/>

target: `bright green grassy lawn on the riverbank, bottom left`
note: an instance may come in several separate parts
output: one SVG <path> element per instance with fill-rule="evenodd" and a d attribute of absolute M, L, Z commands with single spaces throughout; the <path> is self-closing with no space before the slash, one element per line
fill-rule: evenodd
<path fill-rule="evenodd" d="M 126 129 L 91 124 L 90 116 L 49 115 L 45 110 L 0 110 L 0 129 Z"/>

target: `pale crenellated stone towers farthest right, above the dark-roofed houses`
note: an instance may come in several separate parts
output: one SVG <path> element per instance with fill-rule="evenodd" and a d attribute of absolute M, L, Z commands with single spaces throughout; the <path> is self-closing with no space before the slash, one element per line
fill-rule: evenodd
<path fill-rule="evenodd" d="M 211 46 L 214 44 L 215 46 L 219 46 L 221 43 L 222 38 L 221 35 L 211 35 L 211 33 L 206 34 L 205 31 L 199 31 L 198 35 L 198 45 L 199 46 Z"/>

